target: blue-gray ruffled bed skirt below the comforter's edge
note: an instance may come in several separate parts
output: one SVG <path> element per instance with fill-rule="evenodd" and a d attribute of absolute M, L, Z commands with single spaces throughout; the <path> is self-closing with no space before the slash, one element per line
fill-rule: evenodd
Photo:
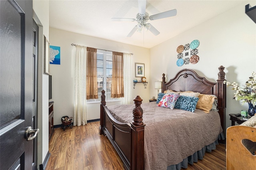
<path fill-rule="evenodd" d="M 202 160 L 204 157 L 204 153 L 207 152 L 212 152 L 212 150 L 216 149 L 216 144 L 218 143 L 218 140 L 224 140 L 225 136 L 224 133 L 221 132 L 219 134 L 218 139 L 213 142 L 212 144 L 209 144 L 207 146 L 204 146 L 201 150 L 198 150 L 194 154 L 188 156 L 187 158 L 183 159 L 182 162 L 176 164 L 176 165 L 170 165 L 167 167 L 167 170 L 181 170 L 181 168 L 188 168 L 188 163 L 193 164 L 194 162 L 197 162 L 198 159 Z"/>

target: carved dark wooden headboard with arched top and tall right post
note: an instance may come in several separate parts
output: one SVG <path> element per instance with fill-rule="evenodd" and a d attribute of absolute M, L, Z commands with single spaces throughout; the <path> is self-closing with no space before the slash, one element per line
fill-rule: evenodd
<path fill-rule="evenodd" d="M 216 95 L 218 98 L 218 109 L 223 131 L 226 131 L 226 85 L 225 72 L 223 66 L 220 66 L 217 82 L 208 81 L 205 77 L 200 77 L 192 69 L 180 70 L 173 79 L 166 83 L 165 74 L 162 77 L 162 93 L 165 90 L 173 91 L 194 91 L 201 94 Z"/>

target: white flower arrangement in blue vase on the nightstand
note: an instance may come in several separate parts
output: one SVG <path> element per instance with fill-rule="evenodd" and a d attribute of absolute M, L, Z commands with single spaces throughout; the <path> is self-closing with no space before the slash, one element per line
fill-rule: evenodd
<path fill-rule="evenodd" d="M 252 72 L 251 76 L 249 77 L 249 80 L 246 81 L 245 85 L 243 87 L 239 87 L 238 83 L 236 82 L 228 82 L 224 81 L 224 84 L 227 86 L 233 86 L 232 90 L 235 90 L 236 93 L 234 93 L 234 99 L 236 101 L 241 101 L 242 103 L 248 103 L 249 105 L 249 111 L 248 114 L 250 115 L 250 112 L 256 113 L 256 73 Z M 253 107 L 255 110 L 252 111 L 251 107 Z M 254 114 L 253 114 L 254 115 Z"/>

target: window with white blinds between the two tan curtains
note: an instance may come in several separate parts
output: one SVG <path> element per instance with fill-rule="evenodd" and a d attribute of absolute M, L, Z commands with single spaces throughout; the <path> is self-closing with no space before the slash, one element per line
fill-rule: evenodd
<path fill-rule="evenodd" d="M 106 101 L 114 101 L 120 99 L 111 98 L 111 82 L 112 82 L 112 51 L 104 51 L 97 49 L 97 84 L 98 99 L 89 99 L 87 102 L 101 101 L 101 91 L 104 89 Z"/>

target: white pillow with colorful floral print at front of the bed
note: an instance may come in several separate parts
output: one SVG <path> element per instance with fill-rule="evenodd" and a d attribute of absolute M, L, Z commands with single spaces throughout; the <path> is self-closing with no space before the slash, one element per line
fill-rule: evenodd
<path fill-rule="evenodd" d="M 166 94 L 161 99 L 161 101 L 158 103 L 158 106 L 160 107 L 168 107 L 170 109 L 173 109 L 175 106 L 175 103 L 177 99 L 180 97 L 180 95 L 177 94 Z"/>

